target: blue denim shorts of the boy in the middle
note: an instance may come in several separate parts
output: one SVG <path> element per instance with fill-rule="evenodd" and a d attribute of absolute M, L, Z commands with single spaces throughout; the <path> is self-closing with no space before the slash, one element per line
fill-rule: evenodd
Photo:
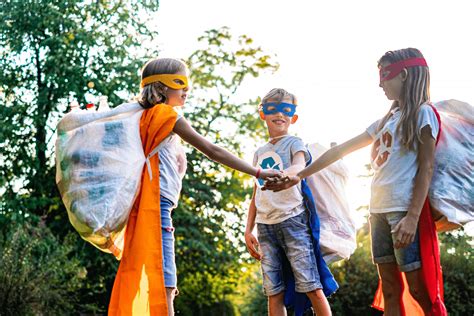
<path fill-rule="evenodd" d="M 278 224 L 257 224 L 262 252 L 263 293 L 273 296 L 285 290 L 283 259 L 288 259 L 295 276 L 295 289 L 307 293 L 321 289 L 307 211 Z"/>

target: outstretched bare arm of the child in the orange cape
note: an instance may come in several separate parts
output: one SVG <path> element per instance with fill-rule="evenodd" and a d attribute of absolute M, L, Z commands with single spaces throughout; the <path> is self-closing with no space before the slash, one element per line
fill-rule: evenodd
<path fill-rule="evenodd" d="M 178 134 L 185 142 L 194 146 L 210 159 L 222 163 L 232 169 L 239 170 L 251 176 L 257 176 L 258 174 L 258 177 L 262 179 L 267 179 L 269 177 L 280 177 L 279 171 L 271 169 L 259 171 L 259 169 L 251 166 L 224 148 L 208 141 L 201 134 L 196 132 L 196 130 L 194 130 L 191 125 L 189 125 L 185 118 L 181 118 L 176 122 L 173 131 Z"/>

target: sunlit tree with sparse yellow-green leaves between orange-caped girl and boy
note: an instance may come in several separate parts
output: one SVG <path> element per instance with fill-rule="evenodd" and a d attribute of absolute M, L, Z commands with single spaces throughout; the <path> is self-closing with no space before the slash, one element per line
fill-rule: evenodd
<path fill-rule="evenodd" d="M 227 28 L 199 38 L 202 49 L 187 60 L 193 98 L 186 117 L 211 141 L 241 155 L 243 146 L 263 136 L 257 98 L 241 101 L 238 88 L 247 77 L 275 71 L 278 65 L 251 38 L 235 39 Z M 186 110 L 186 109 L 185 109 Z M 225 128 L 224 128 L 225 127 Z M 232 315 L 242 254 L 249 177 L 188 152 L 188 171 L 178 209 L 176 251 L 179 287 L 177 310 L 185 315 Z M 189 307 L 192 306 L 192 310 Z"/>

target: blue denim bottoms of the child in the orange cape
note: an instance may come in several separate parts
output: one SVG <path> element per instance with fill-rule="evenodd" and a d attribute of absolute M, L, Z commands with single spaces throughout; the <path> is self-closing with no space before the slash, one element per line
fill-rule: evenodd
<path fill-rule="evenodd" d="M 171 219 L 173 202 L 160 196 L 161 208 L 161 241 L 163 251 L 163 271 L 165 287 L 177 287 L 176 260 L 174 254 L 174 227 Z"/>

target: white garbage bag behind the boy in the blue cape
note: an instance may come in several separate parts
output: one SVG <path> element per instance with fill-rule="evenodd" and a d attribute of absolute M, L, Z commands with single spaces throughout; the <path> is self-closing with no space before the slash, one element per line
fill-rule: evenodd
<path fill-rule="evenodd" d="M 308 146 L 313 161 L 327 149 L 320 144 Z M 320 220 L 320 247 L 326 263 L 347 259 L 356 249 L 356 228 L 347 202 L 345 187 L 348 170 L 342 160 L 309 176 Z"/>

